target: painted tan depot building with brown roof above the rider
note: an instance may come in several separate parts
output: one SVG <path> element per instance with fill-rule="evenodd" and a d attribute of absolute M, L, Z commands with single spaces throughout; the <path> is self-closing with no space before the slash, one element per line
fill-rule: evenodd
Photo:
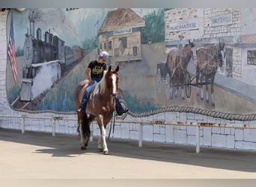
<path fill-rule="evenodd" d="M 109 52 L 111 61 L 140 61 L 144 25 L 144 19 L 130 8 L 109 11 L 98 31 L 100 52 Z"/>

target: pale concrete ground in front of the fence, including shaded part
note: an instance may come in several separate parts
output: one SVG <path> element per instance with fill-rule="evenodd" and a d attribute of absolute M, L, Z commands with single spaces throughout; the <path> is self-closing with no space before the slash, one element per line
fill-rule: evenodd
<path fill-rule="evenodd" d="M 0 129 L 0 179 L 256 179 L 256 152 Z"/>

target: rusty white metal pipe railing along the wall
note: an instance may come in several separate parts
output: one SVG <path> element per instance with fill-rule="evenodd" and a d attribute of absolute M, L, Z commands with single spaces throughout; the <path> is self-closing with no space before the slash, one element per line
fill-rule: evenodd
<path fill-rule="evenodd" d="M 22 119 L 22 134 L 25 132 L 25 119 L 47 119 L 52 120 L 52 136 L 55 137 L 55 122 L 56 120 L 77 120 L 76 117 L 42 117 L 42 116 L 28 116 L 28 115 L 0 115 L 1 118 L 21 118 Z M 203 127 L 224 127 L 235 129 L 256 129 L 256 125 L 249 124 L 232 124 L 232 123 L 189 123 L 189 122 L 171 122 L 171 121 L 159 121 L 159 120 L 115 120 L 117 123 L 137 123 L 139 124 L 138 132 L 138 147 L 142 147 L 143 140 L 143 125 L 172 125 L 172 126 L 195 126 L 196 127 L 196 144 L 195 152 L 200 153 L 200 133 L 199 129 Z M 91 137 L 92 140 L 92 137 Z"/>

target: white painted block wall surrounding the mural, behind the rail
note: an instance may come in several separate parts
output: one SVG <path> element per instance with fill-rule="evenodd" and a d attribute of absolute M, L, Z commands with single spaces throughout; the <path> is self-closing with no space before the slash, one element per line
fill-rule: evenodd
<path fill-rule="evenodd" d="M 41 116 L 41 117 L 76 117 L 74 112 L 61 113 L 56 111 L 28 112 L 14 110 L 7 99 L 7 11 L 0 12 L 0 114 L 13 116 Z M 153 46 L 152 46 L 153 49 Z M 130 113 L 127 120 L 162 120 L 162 121 L 181 121 L 196 123 L 235 123 L 235 124 L 256 124 L 255 120 L 225 120 L 220 117 L 210 117 L 193 112 L 180 111 L 157 111 L 152 112 L 150 116 L 145 113 Z M 21 129 L 21 120 L 19 118 L 1 117 L 0 127 L 7 129 Z M 115 138 L 138 139 L 138 125 L 122 123 L 115 126 Z M 57 120 L 56 133 L 67 133 L 76 135 L 76 121 Z M 99 135 L 99 129 L 96 124 L 93 127 L 94 135 Z M 25 119 L 25 131 L 52 132 L 52 120 Z M 207 147 L 225 147 L 229 149 L 256 150 L 256 131 L 252 129 L 234 129 L 234 128 L 211 128 L 204 127 L 200 129 L 201 145 Z M 165 126 L 165 125 L 144 125 L 144 141 L 159 141 L 174 144 L 195 145 L 195 127 L 191 126 Z M 78 138 L 79 145 L 79 138 Z"/>

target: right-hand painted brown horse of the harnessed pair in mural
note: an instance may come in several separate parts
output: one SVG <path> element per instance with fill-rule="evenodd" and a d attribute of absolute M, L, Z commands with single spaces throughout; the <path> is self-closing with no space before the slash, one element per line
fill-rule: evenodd
<path fill-rule="evenodd" d="M 196 85 L 201 85 L 201 100 L 204 99 L 203 85 L 205 85 L 207 103 L 209 102 L 208 84 L 211 85 L 210 91 L 212 106 L 215 106 L 214 78 L 218 67 L 222 67 L 222 64 L 224 63 L 224 46 L 225 43 L 219 42 L 219 46 L 208 46 L 197 50 Z M 199 96 L 199 88 L 197 89 L 197 96 Z"/>

